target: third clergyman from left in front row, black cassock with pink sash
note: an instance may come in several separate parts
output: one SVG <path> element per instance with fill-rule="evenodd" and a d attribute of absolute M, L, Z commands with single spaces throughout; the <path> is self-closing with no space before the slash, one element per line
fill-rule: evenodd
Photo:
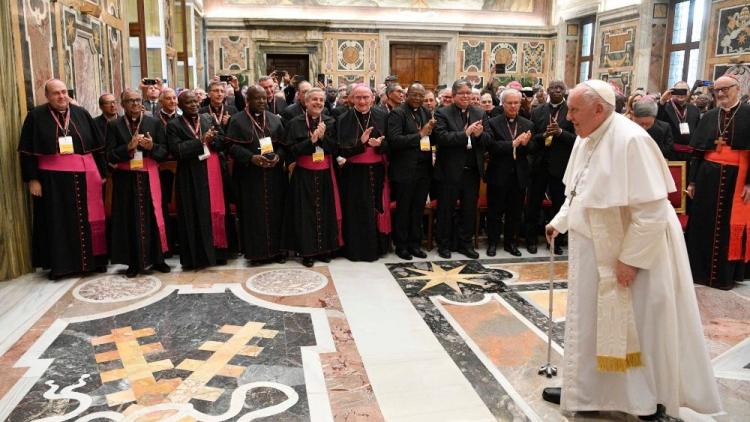
<path fill-rule="evenodd" d="M 167 124 L 169 152 L 177 160 L 177 232 L 186 270 L 226 264 L 227 215 L 218 151 L 223 148 L 208 115 L 199 114 L 191 90 L 177 98 L 182 116 Z"/>

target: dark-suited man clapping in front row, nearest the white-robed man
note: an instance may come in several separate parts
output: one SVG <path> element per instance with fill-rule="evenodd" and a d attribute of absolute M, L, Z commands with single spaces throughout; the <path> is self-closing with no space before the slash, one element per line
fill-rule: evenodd
<path fill-rule="evenodd" d="M 534 135 L 529 143 L 531 156 L 531 185 L 526 199 L 526 250 L 536 253 L 539 214 L 544 195 L 549 190 L 552 215 L 557 214 L 565 201 L 562 177 L 576 140 L 575 128 L 567 119 L 565 82 L 552 81 L 547 88 L 549 103 L 536 107 L 531 113 Z M 555 254 L 562 254 L 562 246 L 555 244 Z"/>

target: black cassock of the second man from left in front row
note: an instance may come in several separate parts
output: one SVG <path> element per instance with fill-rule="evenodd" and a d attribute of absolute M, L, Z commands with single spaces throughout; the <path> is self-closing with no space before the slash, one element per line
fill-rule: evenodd
<path fill-rule="evenodd" d="M 151 199 L 151 174 L 148 171 L 128 170 L 135 151 L 128 151 L 128 143 L 136 133 L 150 134 L 153 148 L 148 151 L 138 147 L 143 158 L 156 162 L 167 157 L 167 144 L 159 120 L 143 116 L 140 125 L 128 122 L 127 116 L 119 117 L 107 127 L 107 161 L 117 166 L 112 170 L 112 246 L 110 260 L 113 264 L 125 264 L 144 270 L 151 265 L 164 262 L 161 235 L 156 212 L 163 221 L 163 211 L 154 210 Z M 144 163 L 145 169 L 146 163 Z M 159 179 L 158 166 L 155 167 Z M 157 181 L 161 188 L 161 180 Z M 161 192 L 159 192 L 161 199 Z M 166 229 L 165 229 L 166 230 Z M 165 231 L 166 241 L 166 231 Z"/>

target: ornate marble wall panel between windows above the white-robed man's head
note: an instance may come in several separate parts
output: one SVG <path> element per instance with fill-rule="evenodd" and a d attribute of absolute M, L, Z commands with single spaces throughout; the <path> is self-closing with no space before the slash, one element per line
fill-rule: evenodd
<path fill-rule="evenodd" d="M 593 78 L 608 80 L 620 93 L 629 95 L 636 72 L 636 35 L 639 21 L 635 17 L 624 19 L 597 19 L 594 36 Z"/>

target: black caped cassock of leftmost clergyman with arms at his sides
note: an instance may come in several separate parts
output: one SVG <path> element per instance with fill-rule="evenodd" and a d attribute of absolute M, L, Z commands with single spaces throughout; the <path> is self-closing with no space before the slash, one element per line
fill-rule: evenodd
<path fill-rule="evenodd" d="M 38 180 L 42 196 L 33 197 L 32 263 L 50 269 L 50 275 L 60 277 L 92 271 L 106 265 L 106 253 L 94 255 L 91 225 L 88 222 L 84 172 L 52 171 L 39 168 L 39 158 L 55 155 L 62 129 L 55 121 L 52 109 L 44 104 L 29 111 L 21 129 L 18 152 L 23 180 Z M 105 177 L 104 141 L 94 120 L 81 107 L 70 105 L 69 135 L 73 137 L 75 154 L 91 153 L 101 177 Z M 57 115 L 64 125 L 65 118 Z"/>

